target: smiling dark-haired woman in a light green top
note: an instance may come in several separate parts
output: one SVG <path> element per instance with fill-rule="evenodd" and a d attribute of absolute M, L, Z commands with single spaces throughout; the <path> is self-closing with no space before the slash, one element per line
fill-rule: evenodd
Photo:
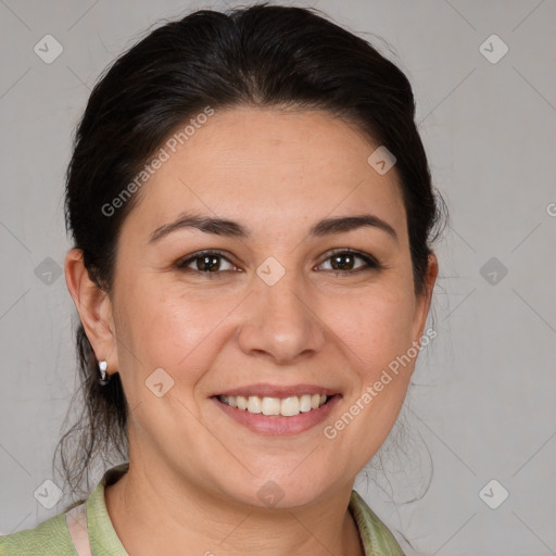
<path fill-rule="evenodd" d="M 86 463 L 128 463 L 2 554 L 402 554 L 352 490 L 433 334 L 400 70 L 305 9 L 168 23 L 92 91 L 66 218 Z"/>

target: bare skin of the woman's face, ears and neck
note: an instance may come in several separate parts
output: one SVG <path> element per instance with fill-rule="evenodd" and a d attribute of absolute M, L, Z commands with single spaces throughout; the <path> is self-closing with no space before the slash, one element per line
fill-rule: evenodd
<path fill-rule="evenodd" d="M 376 147 L 324 112 L 216 111 L 136 193 L 110 295 L 79 251 L 67 254 L 87 336 L 132 408 L 130 470 L 105 490 L 129 554 L 363 555 L 350 493 L 397 417 L 413 364 L 333 440 L 323 429 L 419 341 L 438 271 L 431 255 L 416 294 L 401 189 L 395 169 L 381 176 L 367 163 Z M 185 211 L 251 236 L 182 228 L 149 242 Z M 323 218 L 364 213 L 396 238 L 372 226 L 308 236 Z M 336 249 L 381 266 L 333 270 Z M 194 261 L 177 266 L 201 250 L 226 252 L 212 279 Z M 256 274 L 269 256 L 286 270 L 271 287 Z M 162 397 L 144 383 L 156 368 L 174 380 Z M 342 399 L 325 422 L 285 438 L 238 425 L 210 399 L 261 382 L 314 383 Z M 274 508 L 257 497 L 269 480 L 283 492 Z"/>

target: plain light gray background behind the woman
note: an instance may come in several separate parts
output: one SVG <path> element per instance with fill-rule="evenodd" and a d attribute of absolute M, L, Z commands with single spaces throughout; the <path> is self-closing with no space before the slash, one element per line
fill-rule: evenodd
<path fill-rule="evenodd" d="M 414 375 L 404 434 L 382 451 L 386 472 L 363 472 L 356 488 L 408 555 L 556 554 L 556 2 L 311 5 L 407 73 L 452 215 L 437 244 L 439 336 Z M 54 479 L 75 388 L 74 307 L 56 270 L 70 247 L 62 194 L 77 118 L 139 34 L 205 7 L 225 4 L 0 0 L 0 533 L 71 501 L 46 509 L 34 493 Z M 34 52 L 48 34 L 63 47 L 50 64 Z M 483 55 L 503 52 L 484 43 L 493 34 L 509 48 L 496 63 Z M 509 492 L 496 509 L 479 495 L 493 479 L 491 505 Z"/>

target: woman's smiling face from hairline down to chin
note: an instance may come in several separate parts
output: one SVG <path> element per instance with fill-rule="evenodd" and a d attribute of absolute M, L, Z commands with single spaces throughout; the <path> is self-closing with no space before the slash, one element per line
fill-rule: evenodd
<path fill-rule="evenodd" d="M 123 225 L 111 295 L 109 368 L 140 465 L 296 506 L 376 453 L 414 362 L 391 364 L 415 356 L 435 275 L 416 295 L 395 170 L 367 162 L 377 147 L 327 113 L 247 108 L 165 147 Z M 299 414 L 232 407 L 238 395 Z"/>

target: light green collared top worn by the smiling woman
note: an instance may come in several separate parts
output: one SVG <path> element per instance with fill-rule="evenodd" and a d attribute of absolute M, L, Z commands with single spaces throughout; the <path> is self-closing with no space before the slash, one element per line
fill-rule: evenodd
<path fill-rule="evenodd" d="M 104 485 L 116 482 L 128 468 L 126 463 L 109 469 L 87 498 L 87 528 L 92 556 L 129 556 L 112 526 L 104 503 Z M 404 556 L 392 533 L 355 491 L 352 491 L 349 508 L 359 530 L 366 556 Z M 0 536 L 0 556 L 76 554 L 65 513 L 42 521 L 35 529 Z"/>

